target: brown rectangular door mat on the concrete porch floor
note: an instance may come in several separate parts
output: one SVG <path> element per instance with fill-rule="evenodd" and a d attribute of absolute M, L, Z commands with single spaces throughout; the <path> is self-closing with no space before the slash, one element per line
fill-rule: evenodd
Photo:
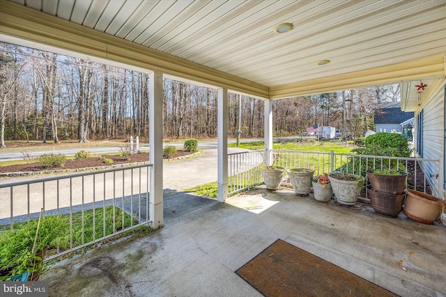
<path fill-rule="evenodd" d="M 280 239 L 236 273 L 268 297 L 398 296 Z"/>

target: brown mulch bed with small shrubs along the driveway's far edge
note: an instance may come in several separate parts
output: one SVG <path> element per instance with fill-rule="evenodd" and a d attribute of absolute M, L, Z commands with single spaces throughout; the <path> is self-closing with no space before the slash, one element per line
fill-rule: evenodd
<path fill-rule="evenodd" d="M 192 154 L 189 151 L 178 150 L 178 156 L 185 156 L 187 154 Z M 112 159 L 113 163 L 104 163 L 104 159 Z M 167 158 L 164 158 L 167 159 Z M 99 156 L 93 156 L 86 159 L 71 159 L 67 160 L 63 167 L 55 167 L 55 168 L 45 168 L 40 166 L 40 163 L 29 163 L 22 165 L 10 165 L 10 166 L 0 166 L 0 173 L 8 173 L 8 172 L 37 172 L 43 170 L 64 170 L 64 169 L 77 169 L 77 168 L 88 168 L 88 167 L 100 167 L 100 166 L 111 166 L 116 164 L 125 164 L 125 163 L 134 163 L 134 162 L 144 162 L 148 161 L 148 152 L 143 154 L 132 154 L 130 155 L 130 160 L 125 158 L 125 156 L 116 156 L 116 155 L 107 155 L 104 158 L 100 158 Z"/>

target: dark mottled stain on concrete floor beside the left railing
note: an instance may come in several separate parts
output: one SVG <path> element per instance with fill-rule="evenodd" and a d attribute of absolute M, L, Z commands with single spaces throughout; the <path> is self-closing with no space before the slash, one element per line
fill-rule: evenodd
<path fill-rule="evenodd" d="M 128 275 L 144 269 L 156 250 L 157 243 L 152 242 L 151 236 L 135 234 L 63 260 L 41 278 L 49 282 L 49 296 L 132 297 L 136 295 Z"/>

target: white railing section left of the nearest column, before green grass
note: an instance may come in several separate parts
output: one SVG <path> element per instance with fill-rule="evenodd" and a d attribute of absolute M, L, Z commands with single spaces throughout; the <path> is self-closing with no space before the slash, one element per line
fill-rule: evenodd
<path fill-rule="evenodd" d="M 58 216 L 66 243 L 45 261 L 150 223 L 151 164 L 0 184 L 0 232 Z M 80 231 L 80 232 L 79 232 Z"/>

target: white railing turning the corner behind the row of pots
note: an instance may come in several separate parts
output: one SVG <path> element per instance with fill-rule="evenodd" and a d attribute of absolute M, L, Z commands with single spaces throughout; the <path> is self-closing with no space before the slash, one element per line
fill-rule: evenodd
<path fill-rule="evenodd" d="M 240 152 L 229 154 L 229 194 L 244 191 L 261 184 L 263 179 L 259 167 L 263 161 L 260 151 Z M 332 152 L 304 152 L 293 150 L 274 150 L 279 158 L 276 166 L 287 170 L 291 168 L 311 168 L 314 175 L 323 175 L 333 171 L 353 173 L 366 177 L 366 170 L 390 168 L 408 172 L 406 188 L 425 193 L 439 193 L 438 175 L 429 174 L 420 176 L 419 169 L 426 168 L 426 163 L 432 163 L 430 168 L 439 168 L 438 159 L 402 158 L 394 156 L 369 156 L 359 154 L 335 154 Z M 254 160 L 254 161 L 247 161 Z M 248 165 L 249 164 L 249 165 Z M 422 165 L 424 164 L 424 165 Z M 232 169 L 233 168 L 233 169 Z M 245 170 L 245 168 L 247 168 Z M 286 182 L 286 176 L 284 182 Z M 364 183 L 367 185 L 367 182 Z M 443 184 L 442 184 L 443 185 Z M 363 189 L 363 198 L 367 198 L 367 191 Z"/>

